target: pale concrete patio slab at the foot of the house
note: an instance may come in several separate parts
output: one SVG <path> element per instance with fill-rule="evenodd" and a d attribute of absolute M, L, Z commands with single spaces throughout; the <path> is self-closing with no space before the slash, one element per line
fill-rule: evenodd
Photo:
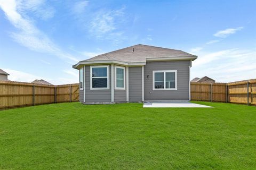
<path fill-rule="evenodd" d="M 143 107 L 208 107 L 211 106 L 199 105 L 195 103 L 190 103 L 189 101 L 152 101 L 145 102 Z"/>

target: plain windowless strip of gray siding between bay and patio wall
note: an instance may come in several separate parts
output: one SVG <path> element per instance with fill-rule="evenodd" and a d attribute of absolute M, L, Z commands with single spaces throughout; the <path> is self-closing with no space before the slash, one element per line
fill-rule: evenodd
<path fill-rule="evenodd" d="M 142 101 L 142 67 L 129 67 L 129 101 Z"/>

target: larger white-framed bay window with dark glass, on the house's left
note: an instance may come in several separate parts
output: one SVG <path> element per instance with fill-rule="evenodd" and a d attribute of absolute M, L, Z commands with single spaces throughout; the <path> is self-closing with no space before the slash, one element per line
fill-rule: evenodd
<path fill-rule="evenodd" d="M 109 89 L 109 66 L 91 66 L 91 90 Z"/>

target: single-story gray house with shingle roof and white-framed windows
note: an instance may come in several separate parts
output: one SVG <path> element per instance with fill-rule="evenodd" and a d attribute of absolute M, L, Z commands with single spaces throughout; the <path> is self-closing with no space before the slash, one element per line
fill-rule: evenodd
<path fill-rule="evenodd" d="M 190 67 L 197 58 L 181 50 L 134 45 L 80 61 L 79 101 L 108 104 L 189 100 Z"/>

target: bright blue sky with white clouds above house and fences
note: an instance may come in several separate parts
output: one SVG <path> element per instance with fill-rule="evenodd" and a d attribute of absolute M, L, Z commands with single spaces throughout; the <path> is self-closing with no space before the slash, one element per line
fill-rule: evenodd
<path fill-rule="evenodd" d="M 255 0 L 0 0 L 0 68 L 12 81 L 77 83 L 78 61 L 145 44 L 197 55 L 191 79 L 255 79 L 255 9 Z"/>

